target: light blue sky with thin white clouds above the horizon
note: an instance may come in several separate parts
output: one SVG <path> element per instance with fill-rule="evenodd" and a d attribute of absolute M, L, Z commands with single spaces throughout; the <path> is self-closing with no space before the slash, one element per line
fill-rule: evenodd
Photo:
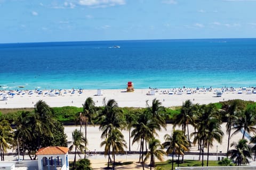
<path fill-rule="evenodd" d="M 256 0 L 0 0 L 0 43 L 255 38 Z"/>

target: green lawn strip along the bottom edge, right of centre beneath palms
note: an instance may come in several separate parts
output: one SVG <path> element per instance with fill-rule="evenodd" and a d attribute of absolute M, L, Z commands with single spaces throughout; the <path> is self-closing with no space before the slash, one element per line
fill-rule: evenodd
<path fill-rule="evenodd" d="M 163 170 L 170 170 L 172 168 L 172 160 L 166 160 L 165 162 L 158 162 L 156 163 L 157 167 L 161 167 Z M 174 161 L 173 169 L 177 167 L 178 164 Z M 180 167 L 188 167 L 188 166 L 202 166 L 201 160 L 184 160 L 182 164 L 179 165 Z M 206 166 L 206 160 L 204 161 L 204 166 Z M 209 166 L 219 166 L 218 161 L 209 160 Z"/>

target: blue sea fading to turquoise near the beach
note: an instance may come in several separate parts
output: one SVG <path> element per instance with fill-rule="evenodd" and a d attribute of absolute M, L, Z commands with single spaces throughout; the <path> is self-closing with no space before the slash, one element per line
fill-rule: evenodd
<path fill-rule="evenodd" d="M 0 90 L 255 87 L 256 39 L 0 44 L 0 63 Z"/>

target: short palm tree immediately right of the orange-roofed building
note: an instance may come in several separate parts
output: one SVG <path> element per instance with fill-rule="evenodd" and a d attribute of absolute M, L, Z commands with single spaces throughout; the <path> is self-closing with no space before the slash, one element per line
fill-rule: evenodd
<path fill-rule="evenodd" d="M 83 137 L 83 135 L 84 134 L 82 132 L 79 132 L 77 129 L 75 129 L 72 132 L 73 141 L 68 142 L 68 144 L 71 143 L 69 150 L 73 150 L 73 148 L 75 148 L 75 157 L 74 157 L 74 164 L 73 164 L 74 168 L 76 168 L 76 154 L 78 154 L 78 156 L 80 156 L 79 152 L 84 154 L 84 150 L 86 149 L 86 147 L 85 147 L 86 140 Z"/>

